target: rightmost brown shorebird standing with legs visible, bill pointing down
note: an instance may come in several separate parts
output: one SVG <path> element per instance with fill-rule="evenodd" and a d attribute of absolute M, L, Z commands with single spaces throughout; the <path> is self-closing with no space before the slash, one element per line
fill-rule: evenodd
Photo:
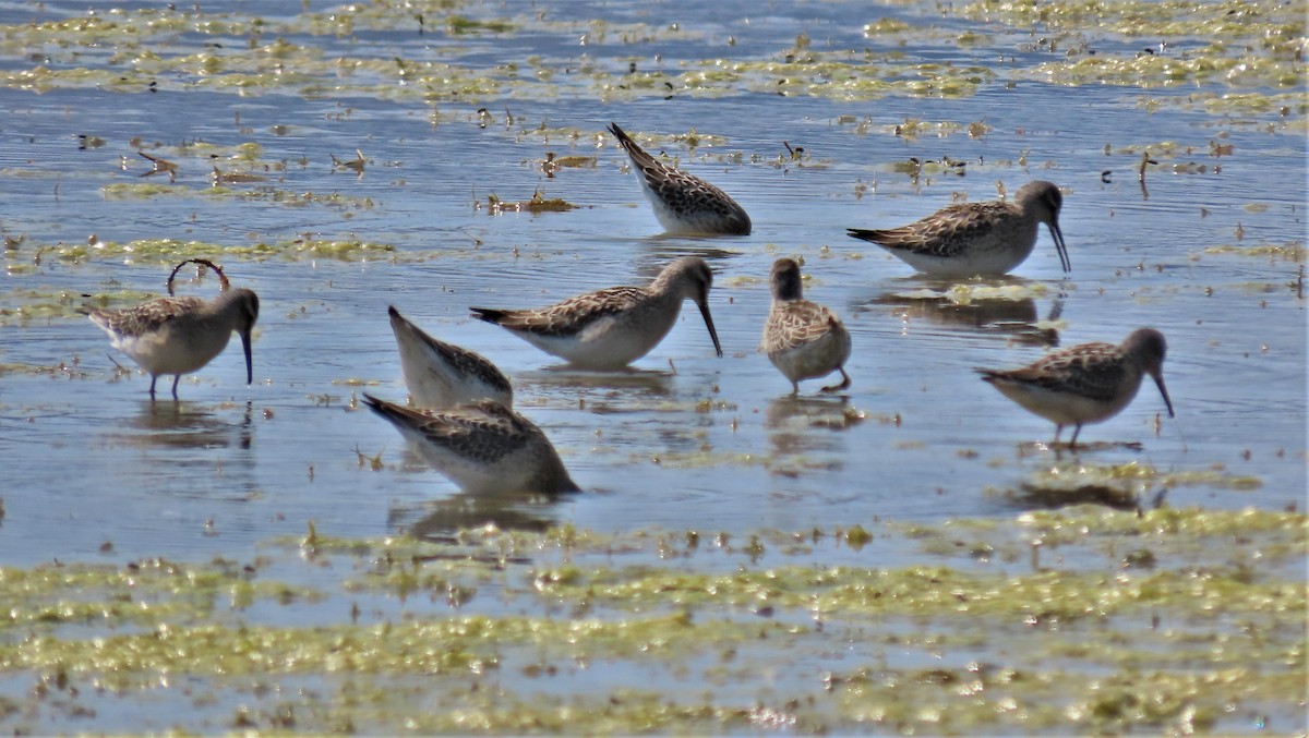
<path fill-rule="evenodd" d="M 1155 378 L 1168 416 L 1173 417 L 1173 400 L 1164 387 L 1166 352 L 1164 334 L 1139 328 L 1119 345 L 1085 343 L 1050 353 L 1022 369 L 978 372 L 1004 396 L 1054 423 L 1056 444 L 1063 427 L 1075 425 L 1068 445 L 1076 448 L 1081 427 L 1118 415 L 1136 396 L 1145 374 Z"/>

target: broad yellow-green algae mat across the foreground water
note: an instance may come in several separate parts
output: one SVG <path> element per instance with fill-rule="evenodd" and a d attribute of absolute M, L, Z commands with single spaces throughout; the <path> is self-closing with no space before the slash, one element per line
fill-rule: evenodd
<path fill-rule="evenodd" d="M 1080 506 L 737 542 L 493 526 L 344 540 L 310 526 L 245 563 L 0 568 L 0 674 L 35 684 L 27 707 L 7 697 L 21 713 L 5 722 L 39 731 L 148 694 L 191 704 L 192 730 L 1289 728 L 1305 699 L 1306 523 Z M 929 560 L 878 567 L 895 539 Z M 847 563 L 818 563 L 842 548 Z M 348 622 L 271 624 L 325 607 Z M 764 665 L 775 687 L 742 691 Z M 568 696 L 535 699 L 554 688 Z M 194 696 L 209 692 L 243 696 Z"/>

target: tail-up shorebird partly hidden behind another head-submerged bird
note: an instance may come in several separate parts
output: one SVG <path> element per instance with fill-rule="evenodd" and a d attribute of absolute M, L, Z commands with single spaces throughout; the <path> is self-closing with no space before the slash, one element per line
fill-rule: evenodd
<path fill-rule="evenodd" d="M 513 407 L 513 386 L 495 364 L 466 348 L 437 340 L 387 308 L 401 351 L 404 385 L 418 407 L 453 407 L 479 399 Z"/>

